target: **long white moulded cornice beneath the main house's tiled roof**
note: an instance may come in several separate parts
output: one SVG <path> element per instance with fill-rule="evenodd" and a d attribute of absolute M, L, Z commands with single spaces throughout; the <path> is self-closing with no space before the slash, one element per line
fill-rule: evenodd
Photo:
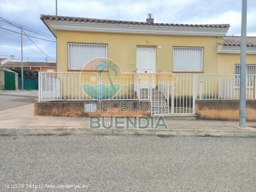
<path fill-rule="evenodd" d="M 141 26 L 115 23 L 44 20 L 56 36 L 56 30 L 101 33 L 160 34 L 183 36 L 225 36 L 229 28 L 195 26 Z"/>

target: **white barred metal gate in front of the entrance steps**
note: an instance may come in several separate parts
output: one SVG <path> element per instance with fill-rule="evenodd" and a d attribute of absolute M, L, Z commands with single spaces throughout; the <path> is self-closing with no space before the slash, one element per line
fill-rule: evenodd
<path fill-rule="evenodd" d="M 157 87 L 149 91 L 152 115 L 195 114 L 195 79 L 195 74 L 158 73 Z"/>

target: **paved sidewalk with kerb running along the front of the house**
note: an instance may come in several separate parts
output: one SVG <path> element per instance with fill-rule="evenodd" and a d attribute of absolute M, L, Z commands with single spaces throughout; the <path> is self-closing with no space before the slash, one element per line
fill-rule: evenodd
<path fill-rule="evenodd" d="M 27 132 L 31 130 L 33 134 L 36 134 L 32 129 L 40 130 L 40 134 L 44 134 L 47 130 L 49 131 L 47 134 L 55 134 L 54 130 L 59 130 L 59 132 L 57 132 L 58 134 L 71 134 L 74 133 L 76 129 L 79 129 L 80 131 L 87 130 L 86 134 L 157 134 L 157 132 L 161 132 L 161 134 L 184 135 L 185 132 L 189 132 L 189 135 L 192 134 L 196 136 L 222 136 L 221 132 L 224 132 L 225 134 L 223 134 L 223 136 L 227 136 L 227 133 L 229 136 L 236 136 L 238 135 L 236 132 L 239 134 L 244 132 L 246 135 L 249 134 L 249 136 L 246 137 L 256 137 L 256 122 L 247 122 L 247 127 L 242 129 L 238 126 L 238 122 L 234 121 L 168 118 L 166 118 L 165 121 L 168 129 L 89 129 L 89 118 L 34 116 L 34 104 L 30 104 L 0 112 L 0 134 L 3 135 L 5 133 L 3 132 L 4 130 L 11 131 L 10 128 L 12 128 L 11 132 L 15 131 L 15 134 L 20 132 L 20 130 L 27 130 Z M 107 122 L 107 125 L 109 125 L 109 120 Z M 88 130 L 90 133 L 88 133 Z M 178 134 L 179 132 L 182 132 L 182 134 Z M 210 134 L 207 134 L 207 132 Z M 213 132 L 215 132 L 214 135 Z"/>

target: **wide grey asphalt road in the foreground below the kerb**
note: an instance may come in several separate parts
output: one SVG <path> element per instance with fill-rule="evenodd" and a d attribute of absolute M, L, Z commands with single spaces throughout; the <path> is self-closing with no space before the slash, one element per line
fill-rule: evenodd
<path fill-rule="evenodd" d="M 253 138 L 6 136 L 0 137 L 0 191 L 255 192 L 255 155 Z M 67 184 L 88 188 L 56 188 Z"/>

